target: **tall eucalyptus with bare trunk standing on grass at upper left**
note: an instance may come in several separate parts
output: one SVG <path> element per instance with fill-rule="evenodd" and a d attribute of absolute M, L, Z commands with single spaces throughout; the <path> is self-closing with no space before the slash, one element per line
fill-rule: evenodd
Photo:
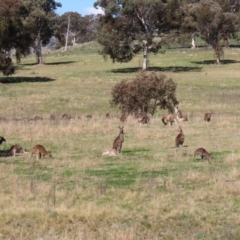
<path fill-rule="evenodd" d="M 58 15 L 55 10 L 62 5 L 54 0 L 22 1 L 28 12 L 24 26 L 29 29 L 29 34 L 35 39 L 37 63 L 42 64 L 42 45 L 47 44 L 57 30 Z"/>

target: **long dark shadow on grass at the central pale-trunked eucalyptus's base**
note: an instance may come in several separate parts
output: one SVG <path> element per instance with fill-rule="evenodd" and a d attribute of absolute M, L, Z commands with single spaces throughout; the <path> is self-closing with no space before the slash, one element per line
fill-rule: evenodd
<path fill-rule="evenodd" d="M 181 66 L 170 66 L 170 67 L 148 67 L 147 71 L 157 72 L 200 72 L 202 67 L 181 67 Z M 113 69 L 113 73 L 134 73 L 141 71 L 141 68 L 118 68 Z"/>

